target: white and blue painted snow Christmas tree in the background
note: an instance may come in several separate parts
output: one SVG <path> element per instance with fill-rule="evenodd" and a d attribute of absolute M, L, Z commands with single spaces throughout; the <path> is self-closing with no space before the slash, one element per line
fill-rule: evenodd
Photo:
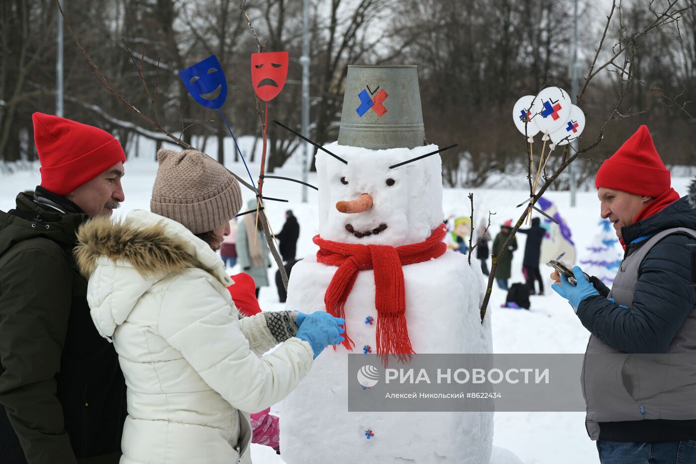
<path fill-rule="evenodd" d="M 619 272 L 624 252 L 611 222 L 602 219 L 599 226 L 601 232 L 594 236 L 592 245 L 585 249 L 586 257 L 580 260 L 580 266 L 587 274 L 599 277 L 605 285 L 611 286 Z"/>

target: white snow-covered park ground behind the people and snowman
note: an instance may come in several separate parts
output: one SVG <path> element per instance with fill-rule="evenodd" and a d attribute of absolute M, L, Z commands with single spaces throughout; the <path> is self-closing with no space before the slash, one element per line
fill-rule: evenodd
<path fill-rule="evenodd" d="M 242 150 L 252 143 L 251 139 L 240 139 Z M 259 144 L 260 145 L 260 144 Z M 228 158 L 232 159 L 232 146 L 226 150 Z M 260 148 L 260 146 L 259 146 Z M 149 209 L 150 192 L 155 180 L 157 164 L 154 161 L 154 152 L 148 144 L 140 144 L 144 150 L 140 157 L 130 156 L 125 164 L 126 176 L 123 178 L 123 189 L 126 199 L 118 215 L 124 215 L 132 209 Z M 207 153 L 216 153 L 214 148 L 206 147 Z M 298 150 L 299 153 L 300 150 Z M 245 173 L 244 166 L 233 162 L 226 163 L 229 169 L 242 176 Z M 258 173 L 258 164 L 251 165 L 252 173 Z M 291 159 L 283 169 L 277 170 L 276 175 L 293 178 L 301 178 L 299 161 Z M 244 176 L 246 177 L 246 176 Z M 673 178 L 672 186 L 680 194 L 686 193 L 689 178 Z M 317 185 L 316 175 L 310 173 L 309 182 Z M 0 174 L 0 210 L 8 210 L 14 206 L 14 198 L 17 192 L 33 190 L 40 183 L 38 165 L 31 169 L 17 170 L 12 175 Z M 474 193 L 475 224 L 487 216 L 488 211 L 496 212 L 493 216 L 491 234 L 494 236 L 500 230 L 500 224 L 506 219 L 516 219 L 521 210 L 515 205 L 527 198 L 528 190 L 523 190 L 525 181 L 523 174 L 513 183 L 500 183 L 500 185 L 520 185 L 520 190 L 482 190 L 446 189 L 443 199 L 443 210 L 448 215 L 470 215 L 470 203 L 468 192 Z M 244 189 L 243 189 L 244 190 Z M 312 237 L 318 233 L 318 208 L 317 199 L 320 192 L 309 190 L 308 203 L 301 203 L 301 186 L 285 180 L 266 181 L 264 194 L 276 198 L 290 200 L 289 203 L 267 201 L 267 216 L 274 230 L 279 231 L 285 219 L 284 212 L 292 209 L 301 225 L 298 242 L 298 256 L 306 256 L 317 250 L 312 242 Z M 244 190 L 246 199 L 251 199 L 251 192 Z M 599 201 L 594 190 L 590 192 L 578 192 L 577 206 L 570 207 L 568 192 L 547 192 L 546 199 L 553 201 L 560 214 L 567 221 L 576 242 L 578 256 L 585 256 L 585 247 L 590 245 L 590 240 L 599 233 Z M 512 279 L 510 282 L 523 281 L 521 266 L 525 242 L 524 235 L 518 236 L 519 249 L 514 254 L 512 264 Z M 490 264 L 490 263 L 489 263 Z M 472 265 L 479 265 L 473 260 Z M 232 269 L 230 273 L 239 272 Z M 270 270 L 274 273 L 275 270 Z M 544 276 L 548 275 L 546 269 L 542 269 Z M 278 302 L 278 294 L 271 274 L 271 287 L 262 288 L 260 293 L 260 305 L 264 310 L 282 309 L 283 304 Z M 551 281 L 546 279 L 546 295 L 532 296 L 530 311 L 512 309 L 500 309 L 500 304 L 505 302 L 505 292 L 494 286 L 491 295 L 491 310 L 489 315 L 493 318 L 493 350 L 494 353 L 584 353 L 587 344 L 588 333 L 580 325 L 575 314 L 560 296 L 550 288 Z M 487 317 L 488 317 L 487 316 Z M 276 409 L 276 413 L 282 417 L 282 411 Z M 493 436 L 493 464 L 517 464 L 520 461 L 525 464 L 587 464 L 598 463 L 594 442 L 587 438 L 585 431 L 584 412 L 496 412 L 495 435 Z M 316 446 L 326 446 L 319 444 Z M 311 446 L 311 445 L 309 445 Z M 253 445 L 252 456 L 255 464 L 283 463 L 275 452 L 267 447 Z M 517 456 L 518 459 L 515 458 Z"/>

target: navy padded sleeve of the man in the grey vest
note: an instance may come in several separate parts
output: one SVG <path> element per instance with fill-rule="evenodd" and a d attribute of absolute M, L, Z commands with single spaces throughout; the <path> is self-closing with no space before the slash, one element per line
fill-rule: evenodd
<path fill-rule="evenodd" d="M 696 287 L 690 286 L 690 256 L 686 235 L 669 235 L 643 259 L 631 309 L 603 296 L 583 300 L 578 318 L 587 330 L 609 346 L 626 353 L 665 353 L 696 306 Z"/>

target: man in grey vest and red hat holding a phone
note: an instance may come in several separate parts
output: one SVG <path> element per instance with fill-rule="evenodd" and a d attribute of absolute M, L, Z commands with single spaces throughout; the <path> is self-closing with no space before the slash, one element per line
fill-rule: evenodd
<path fill-rule="evenodd" d="M 642 125 L 595 180 L 601 217 L 625 249 L 611 290 L 577 266 L 577 286 L 551 274 L 592 333 L 583 393 L 603 464 L 696 463 L 696 287 L 686 248 L 696 244 L 696 210 L 670 185 Z"/>

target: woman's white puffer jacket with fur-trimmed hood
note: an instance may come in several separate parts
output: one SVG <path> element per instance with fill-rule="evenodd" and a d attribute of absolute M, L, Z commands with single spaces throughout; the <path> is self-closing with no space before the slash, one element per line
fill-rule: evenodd
<path fill-rule="evenodd" d="M 121 464 L 251 463 L 248 413 L 285 398 L 313 362 L 290 312 L 240 320 L 220 258 L 152 212 L 93 219 L 79 241 L 90 313 L 127 385 Z"/>

